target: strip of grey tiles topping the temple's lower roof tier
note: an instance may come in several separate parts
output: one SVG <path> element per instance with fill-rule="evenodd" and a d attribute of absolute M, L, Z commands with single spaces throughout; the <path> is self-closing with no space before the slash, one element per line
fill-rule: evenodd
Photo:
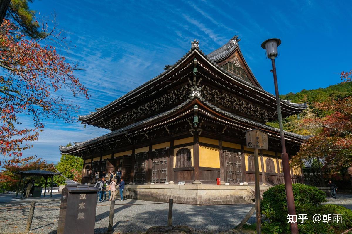
<path fill-rule="evenodd" d="M 196 98 L 196 97 L 195 97 Z M 193 98 L 194 99 L 194 98 Z M 104 140 L 104 139 L 109 139 L 109 138 L 112 138 L 113 136 L 119 136 L 119 135 L 122 135 L 124 134 L 126 131 L 130 130 L 130 129 L 133 129 L 135 127 L 139 127 L 139 126 L 143 126 L 145 125 L 146 123 L 149 123 L 149 122 L 152 122 L 154 120 L 158 120 L 158 119 L 161 119 L 165 116 L 170 116 L 172 113 L 174 113 L 175 111 L 181 109 L 182 107 L 185 107 L 188 103 L 190 103 L 193 99 L 188 99 L 186 100 L 185 102 L 183 102 L 182 104 L 178 105 L 177 107 L 175 108 L 172 108 L 170 109 L 169 111 L 166 111 L 166 112 L 163 112 L 163 113 L 160 113 L 158 115 L 155 115 L 155 116 L 152 116 L 148 119 L 145 119 L 145 120 L 142 120 L 142 121 L 139 121 L 139 122 L 136 122 L 136 123 L 133 123 L 131 125 L 128 125 L 126 127 L 123 127 L 123 128 L 120 128 L 120 129 L 117 129 L 111 133 L 107 133 L 105 135 L 102 135 L 102 136 L 99 136 L 97 138 L 93 138 L 91 140 L 87 140 L 87 141 L 83 141 L 83 142 L 77 142 L 76 145 L 74 146 L 68 146 L 68 147 L 64 147 L 64 146 L 60 146 L 59 149 L 61 152 L 68 152 L 68 151 L 71 151 L 71 150 L 74 150 L 74 149 L 77 149 L 78 147 L 83 147 L 83 146 L 87 146 L 87 145 L 90 145 L 92 143 L 96 143 L 96 142 L 99 142 L 101 140 Z M 239 115 L 236 115 L 236 114 L 232 114 L 230 112 L 227 112 L 227 111 L 224 111 L 214 105 L 212 105 L 211 103 L 209 103 L 208 101 L 206 101 L 205 99 L 200 99 L 201 102 L 203 102 L 205 105 L 207 105 L 208 107 L 212 108 L 213 110 L 215 110 L 216 112 L 218 113 L 222 113 L 222 114 L 225 114 L 227 115 L 228 117 L 232 118 L 233 120 L 236 120 L 236 121 L 240 121 L 240 122 L 245 122 L 245 123 L 248 123 L 252 126 L 257 126 L 257 127 L 261 127 L 263 129 L 268 129 L 268 130 L 271 130 L 271 131 L 275 131 L 277 133 L 280 132 L 280 130 L 278 128 L 274 128 L 274 127 L 270 127 L 270 126 L 267 126 L 263 123 L 260 123 L 260 122 L 257 122 L 257 121 L 253 121 L 253 120 L 250 120 L 250 119 L 246 119 L 244 117 L 241 117 Z M 288 136 L 292 136 L 292 137 L 295 137 L 295 138 L 298 138 L 298 139 L 301 139 L 301 140 L 305 140 L 305 139 L 308 139 L 309 137 L 308 136 L 303 136 L 303 135 L 298 135 L 298 134 L 295 134 L 295 133 L 291 133 L 291 132 L 286 132 L 285 131 L 285 135 L 288 135 Z"/>

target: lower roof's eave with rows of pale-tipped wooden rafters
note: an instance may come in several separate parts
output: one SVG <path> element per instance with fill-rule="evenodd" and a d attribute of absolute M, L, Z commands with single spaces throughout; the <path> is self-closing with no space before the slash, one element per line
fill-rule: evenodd
<path fill-rule="evenodd" d="M 148 120 L 145 121 L 145 124 L 143 124 L 144 122 L 141 121 L 141 123 L 139 123 L 136 126 L 131 126 L 131 128 L 129 129 L 124 127 L 112 133 L 103 135 L 99 138 L 92 139 L 86 142 L 81 142 L 77 146 L 61 147 L 60 150 L 62 154 L 78 155 L 83 151 L 88 151 L 93 148 L 106 146 L 117 141 L 130 139 L 137 135 L 143 135 L 148 132 L 155 131 L 158 128 L 162 128 L 168 125 L 173 125 L 177 123 L 179 119 L 182 119 L 182 118 L 184 119 L 187 115 L 192 115 L 194 111 L 194 105 L 199 105 L 200 115 L 202 114 L 207 115 L 208 118 L 212 118 L 215 121 L 223 123 L 224 125 L 228 125 L 234 128 L 241 128 L 244 130 L 259 128 L 262 131 L 267 132 L 272 137 L 280 138 L 278 129 L 276 129 L 276 132 L 275 132 L 271 130 L 275 128 L 272 128 L 269 126 L 264 127 L 262 123 L 245 119 L 240 116 L 237 116 L 237 118 L 239 118 L 240 120 L 247 120 L 247 122 L 249 121 L 252 124 L 246 123 L 245 121 L 239 121 L 239 120 L 233 119 L 231 118 L 231 115 L 232 116 L 235 116 L 235 115 L 228 113 L 226 111 L 222 111 L 221 109 L 215 108 L 214 106 L 212 107 L 212 105 L 208 103 L 206 100 L 194 98 L 194 99 L 187 100 L 186 102 L 183 103 L 183 105 L 180 105 L 179 108 L 174 108 L 173 109 L 174 111 L 171 111 L 170 113 L 164 112 L 162 114 L 149 118 Z M 191 118 L 191 116 L 189 116 L 189 118 Z M 292 133 L 290 134 L 292 135 Z M 303 142 L 302 139 L 298 139 L 290 135 L 286 136 L 286 134 L 285 134 L 285 139 L 298 144 Z"/>

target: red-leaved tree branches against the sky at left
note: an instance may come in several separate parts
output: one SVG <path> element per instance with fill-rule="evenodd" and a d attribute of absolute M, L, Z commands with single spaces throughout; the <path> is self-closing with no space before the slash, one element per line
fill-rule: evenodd
<path fill-rule="evenodd" d="M 55 26 L 50 31 L 42 22 L 45 35 L 40 39 L 28 39 L 9 20 L 0 27 L 0 108 L 2 125 L 0 145 L 2 163 L 21 163 L 35 158 L 23 156 L 32 148 L 31 141 L 38 140 L 43 131 L 43 120 L 61 119 L 72 122 L 79 106 L 68 101 L 64 93 L 83 95 L 88 99 L 88 89 L 74 75 L 79 69 L 71 65 L 49 41 L 62 42 Z M 54 22 L 55 25 L 55 22 Z M 59 41 L 58 41 L 59 40 Z M 62 43 L 58 43 L 62 45 Z M 21 127 L 20 118 L 29 116 L 32 128 Z"/>

